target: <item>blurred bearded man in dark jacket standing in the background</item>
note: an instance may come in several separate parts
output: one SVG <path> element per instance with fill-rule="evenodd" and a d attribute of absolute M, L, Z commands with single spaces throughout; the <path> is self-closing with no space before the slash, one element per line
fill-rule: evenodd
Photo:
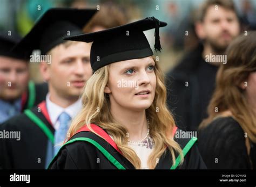
<path fill-rule="evenodd" d="M 240 32 L 239 18 L 231 0 L 207 0 L 198 12 L 196 33 L 202 43 L 166 76 L 167 104 L 178 126 L 197 131 L 215 85 L 220 63 L 206 62 L 206 56 L 224 55 Z"/>

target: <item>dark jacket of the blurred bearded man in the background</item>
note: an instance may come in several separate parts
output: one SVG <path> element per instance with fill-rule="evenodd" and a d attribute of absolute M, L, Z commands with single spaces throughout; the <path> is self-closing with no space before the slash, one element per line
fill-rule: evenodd
<path fill-rule="evenodd" d="M 188 52 L 166 74 L 167 105 L 182 130 L 197 131 L 207 117 L 218 67 L 202 57 L 203 45 Z"/>

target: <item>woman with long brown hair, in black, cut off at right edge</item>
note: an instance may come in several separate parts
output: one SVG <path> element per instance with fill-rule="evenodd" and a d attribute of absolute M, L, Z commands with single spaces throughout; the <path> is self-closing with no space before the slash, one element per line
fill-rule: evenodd
<path fill-rule="evenodd" d="M 217 73 L 199 150 L 208 169 L 256 168 L 256 32 L 227 48 Z"/>

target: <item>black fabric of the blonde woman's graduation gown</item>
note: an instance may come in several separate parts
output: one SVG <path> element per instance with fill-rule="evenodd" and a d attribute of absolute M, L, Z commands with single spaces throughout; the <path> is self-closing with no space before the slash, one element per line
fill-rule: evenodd
<path fill-rule="evenodd" d="M 87 141 L 74 141 L 77 138 L 89 138 L 96 141 L 123 166 L 123 169 L 134 169 L 133 165 L 110 143 L 87 131 L 78 132 L 72 136 L 52 160 L 49 169 L 119 169 L 110 160 L 106 159 L 106 156 L 95 145 Z M 190 141 L 190 139 L 181 138 L 175 140 L 181 148 L 184 148 L 187 142 Z M 155 169 L 170 169 L 171 167 L 171 153 L 166 149 Z M 196 145 L 193 145 L 188 151 L 183 164 L 178 166 L 177 169 L 206 169 Z"/>

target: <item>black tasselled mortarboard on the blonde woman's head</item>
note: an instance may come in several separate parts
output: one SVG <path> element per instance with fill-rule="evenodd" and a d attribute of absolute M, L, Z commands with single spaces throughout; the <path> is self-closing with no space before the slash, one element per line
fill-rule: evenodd
<path fill-rule="evenodd" d="M 93 71 L 107 64 L 140 59 L 153 55 L 149 42 L 143 31 L 155 28 L 156 51 L 160 51 L 159 27 L 167 24 L 154 17 L 145 18 L 130 24 L 113 27 L 94 33 L 65 37 L 65 40 L 92 42 L 91 67 Z"/>

